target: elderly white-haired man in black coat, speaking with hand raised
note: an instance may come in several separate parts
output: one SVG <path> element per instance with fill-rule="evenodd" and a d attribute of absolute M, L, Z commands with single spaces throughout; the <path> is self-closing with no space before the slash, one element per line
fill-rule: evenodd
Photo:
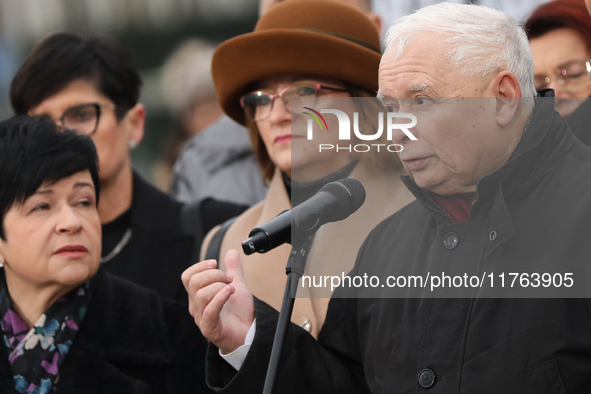
<path fill-rule="evenodd" d="M 393 135 L 417 201 L 369 235 L 350 276 L 494 272 L 495 290 L 498 275 L 526 272 L 538 297 L 363 298 L 339 288 L 318 341 L 290 326 L 275 392 L 590 392 L 589 301 L 549 298 L 534 274 L 588 266 L 591 150 L 554 111 L 553 92 L 535 92 L 523 30 L 500 11 L 440 3 L 402 18 L 386 47 L 378 97 L 417 116 L 416 141 Z M 208 384 L 261 392 L 277 312 L 253 300 L 237 253 L 225 266 L 204 261 L 183 274 L 214 350 Z"/>

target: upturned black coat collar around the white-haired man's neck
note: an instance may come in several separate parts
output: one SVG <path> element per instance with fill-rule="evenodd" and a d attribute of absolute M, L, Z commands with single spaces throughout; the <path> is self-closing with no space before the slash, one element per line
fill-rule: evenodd
<path fill-rule="evenodd" d="M 572 134 L 567 131 L 567 125 L 554 109 L 554 92 L 542 91 L 527 131 L 509 160 L 478 182 L 478 200 L 472 207 L 470 218 L 486 217 L 499 193 L 507 200 L 514 193 L 533 187 L 535 181 L 550 171 L 556 161 L 575 144 Z M 432 214 L 440 220 L 449 221 L 447 214 L 433 202 L 427 190 L 421 189 L 408 175 L 403 176 L 403 182 Z"/>

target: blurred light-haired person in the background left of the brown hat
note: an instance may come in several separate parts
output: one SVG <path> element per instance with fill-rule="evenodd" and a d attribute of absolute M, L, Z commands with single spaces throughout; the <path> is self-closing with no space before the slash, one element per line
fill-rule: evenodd
<path fill-rule="evenodd" d="M 215 46 L 200 39 L 179 45 L 162 66 L 161 90 L 173 117 L 164 157 L 154 169 L 156 185 L 168 191 L 172 167 L 185 143 L 221 115 L 222 109 L 211 79 Z M 201 147 L 203 149 L 203 147 Z"/>

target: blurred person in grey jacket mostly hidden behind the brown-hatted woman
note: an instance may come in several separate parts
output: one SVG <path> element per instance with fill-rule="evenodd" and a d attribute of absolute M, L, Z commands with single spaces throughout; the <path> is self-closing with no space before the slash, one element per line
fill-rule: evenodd
<path fill-rule="evenodd" d="M 283 1 L 261 0 L 259 15 L 263 16 Z M 381 18 L 372 12 L 370 0 L 336 1 L 364 12 L 377 31 L 381 31 Z M 170 186 L 170 195 L 183 202 L 213 197 L 252 205 L 261 201 L 266 193 L 248 132 L 227 116 L 222 116 L 189 141 L 174 166 Z"/>

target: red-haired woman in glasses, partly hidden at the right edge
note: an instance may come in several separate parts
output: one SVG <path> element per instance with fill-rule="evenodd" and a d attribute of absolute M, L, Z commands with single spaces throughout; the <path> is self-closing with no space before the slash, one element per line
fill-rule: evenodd
<path fill-rule="evenodd" d="M 591 16 L 583 0 L 553 0 L 525 22 L 537 90 L 556 92 L 564 117 L 591 95 Z"/>

